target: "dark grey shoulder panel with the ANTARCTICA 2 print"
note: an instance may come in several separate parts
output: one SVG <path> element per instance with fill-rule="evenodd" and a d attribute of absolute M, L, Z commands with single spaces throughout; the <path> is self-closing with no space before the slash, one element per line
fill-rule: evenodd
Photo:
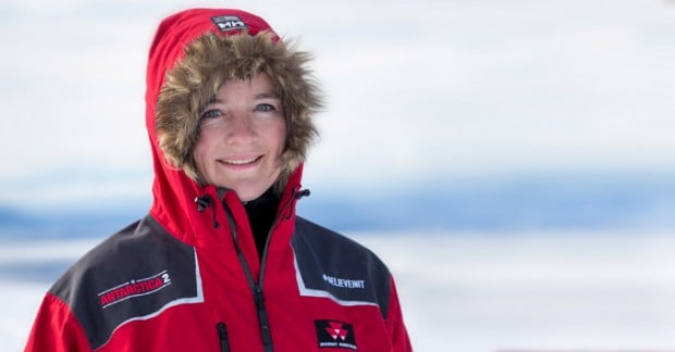
<path fill-rule="evenodd" d="M 194 248 L 150 216 L 85 254 L 50 292 L 70 305 L 93 349 L 125 323 L 204 301 Z"/>

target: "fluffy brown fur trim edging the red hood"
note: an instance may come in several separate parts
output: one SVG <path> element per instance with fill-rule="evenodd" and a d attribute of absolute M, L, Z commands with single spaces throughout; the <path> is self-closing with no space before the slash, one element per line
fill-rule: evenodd
<path fill-rule="evenodd" d="M 167 73 L 156 110 L 159 147 L 171 165 L 202 184 L 193 160 L 201 110 L 226 79 L 249 79 L 265 73 L 277 88 L 286 120 L 282 171 L 275 184 L 278 190 L 285 188 L 289 176 L 305 161 L 318 137 L 311 116 L 322 101 L 305 67 L 310 54 L 275 38 L 270 32 L 255 36 L 208 33 L 185 48 L 185 56 Z"/>

